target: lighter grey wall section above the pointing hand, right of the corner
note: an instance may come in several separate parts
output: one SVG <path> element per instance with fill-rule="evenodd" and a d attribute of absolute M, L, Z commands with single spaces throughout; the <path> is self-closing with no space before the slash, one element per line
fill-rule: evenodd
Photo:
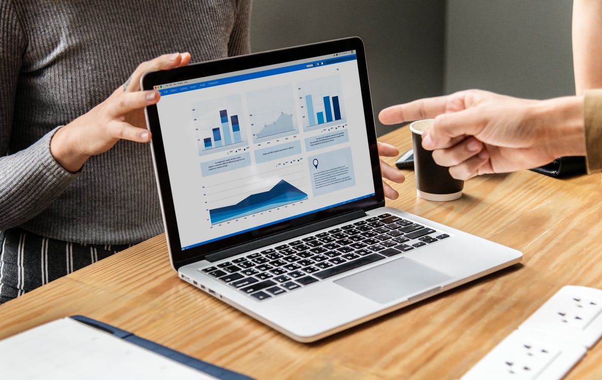
<path fill-rule="evenodd" d="M 568 0 L 447 0 L 445 93 L 574 94 Z"/>

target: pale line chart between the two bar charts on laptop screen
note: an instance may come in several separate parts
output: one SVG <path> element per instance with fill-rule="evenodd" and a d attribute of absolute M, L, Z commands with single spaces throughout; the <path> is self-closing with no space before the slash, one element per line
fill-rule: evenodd
<path fill-rule="evenodd" d="M 299 133 L 293 94 L 293 85 L 290 84 L 246 94 L 253 142 Z"/>

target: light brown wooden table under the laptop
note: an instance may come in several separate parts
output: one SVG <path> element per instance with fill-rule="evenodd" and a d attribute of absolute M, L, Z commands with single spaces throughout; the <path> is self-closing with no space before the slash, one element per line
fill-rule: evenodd
<path fill-rule="evenodd" d="M 411 147 L 406 127 L 381 140 Z M 516 248 L 523 263 L 302 344 L 179 280 L 161 234 L 1 305 L 0 339 L 84 314 L 256 379 L 456 379 L 560 287 L 602 289 L 600 174 L 482 176 L 436 203 L 404 173 L 388 205 Z M 600 379 L 600 363 L 598 343 L 567 379 Z"/>

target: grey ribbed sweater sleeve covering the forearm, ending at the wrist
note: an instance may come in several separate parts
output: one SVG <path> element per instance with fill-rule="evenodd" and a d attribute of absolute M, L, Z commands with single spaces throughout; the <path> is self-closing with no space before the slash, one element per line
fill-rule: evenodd
<path fill-rule="evenodd" d="M 54 130 L 25 150 L 0 158 L 0 230 L 38 215 L 78 177 L 50 153 Z"/>

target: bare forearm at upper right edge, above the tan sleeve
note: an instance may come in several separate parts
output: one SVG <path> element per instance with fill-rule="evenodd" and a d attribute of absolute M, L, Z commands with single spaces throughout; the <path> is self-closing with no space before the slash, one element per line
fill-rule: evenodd
<path fill-rule="evenodd" d="M 573 66 L 577 95 L 602 88 L 602 1 L 573 1 Z"/>

